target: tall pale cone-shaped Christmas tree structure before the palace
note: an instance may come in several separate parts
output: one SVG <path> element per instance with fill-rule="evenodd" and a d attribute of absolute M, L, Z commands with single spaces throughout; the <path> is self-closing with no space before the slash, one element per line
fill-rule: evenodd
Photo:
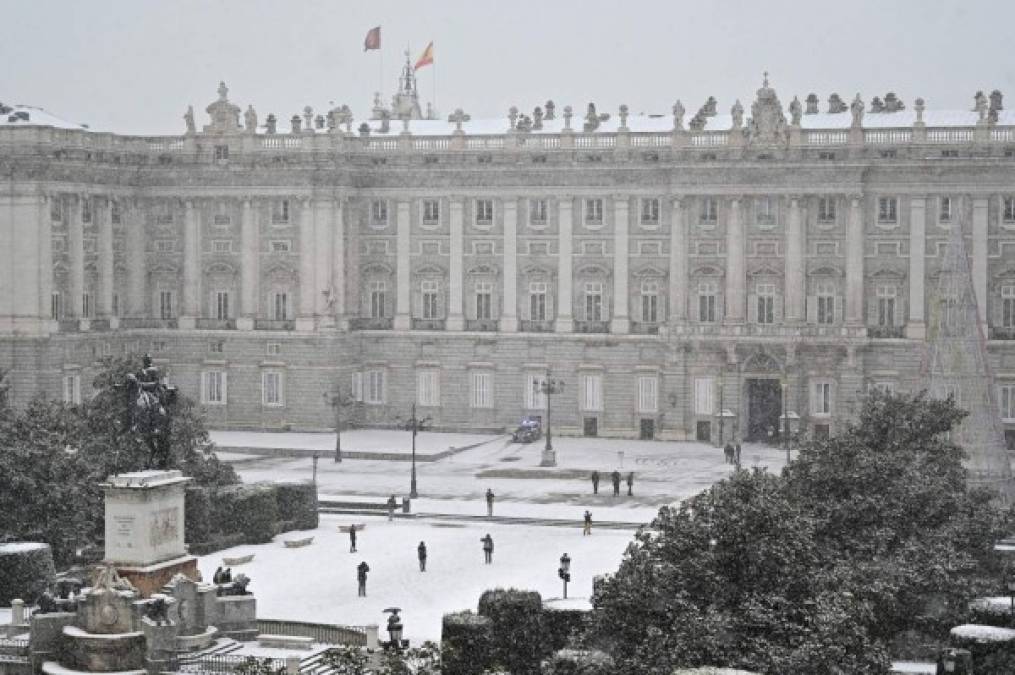
<path fill-rule="evenodd" d="M 958 222 L 951 237 L 938 283 L 930 298 L 926 376 L 932 396 L 955 397 L 968 411 L 952 440 L 968 454 L 972 483 L 1012 493 L 1011 462 L 998 414 L 994 375 L 987 360 L 987 342 L 976 309 L 965 241 Z"/>

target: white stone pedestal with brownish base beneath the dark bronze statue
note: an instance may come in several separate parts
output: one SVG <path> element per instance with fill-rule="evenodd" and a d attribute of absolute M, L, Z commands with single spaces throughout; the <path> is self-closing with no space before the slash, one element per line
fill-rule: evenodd
<path fill-rule="evenodd" d="M 106 493 L 106 562 L 142 597 L 175 575 L 197 578 L 197 558 L 184 543 L 184 487 L 180 471 L 137 471 L 110 476 Z"/>

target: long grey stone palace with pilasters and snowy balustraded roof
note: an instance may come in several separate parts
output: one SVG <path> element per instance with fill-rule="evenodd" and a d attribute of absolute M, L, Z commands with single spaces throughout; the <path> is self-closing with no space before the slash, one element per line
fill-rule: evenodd
<path fill-rule="evenodd" d="M 369 120 L 280 130 L 224 86 L 202 128 L 0 116 L 0 367 L 15 402 L 87 396 L 149 351 L 219 427 L 392 423 L 627 437 L 834 433 L 870 388 L 926 384 L 935 281 L 964 234 L 1015 434 L 1015 115 L 767 81 L 685 116 Z M 241 118 L 243 118 L 241 120 Z"/>

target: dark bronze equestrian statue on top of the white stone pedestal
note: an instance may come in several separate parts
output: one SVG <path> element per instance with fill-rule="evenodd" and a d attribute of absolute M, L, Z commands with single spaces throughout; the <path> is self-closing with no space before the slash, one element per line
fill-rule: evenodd
<path fill-rule="evenodd" d="M 126 395 L 130 430 L 139 434 L 148 447 L 149 468 L 167 469 L 172 409 L 177 401 L 177 389 L 162 382 L 161 373 L 152 363 L 150 354 L 144 355 L 137 373 L 127 376 Z"/>

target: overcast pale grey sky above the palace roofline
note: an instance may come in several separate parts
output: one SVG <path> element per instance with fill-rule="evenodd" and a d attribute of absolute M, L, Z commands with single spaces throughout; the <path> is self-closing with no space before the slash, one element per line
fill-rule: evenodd
<path fill-rule="evenodd" d="M 911 106 L 971 108 L 976 89 L 1015 106 L 1012 0 L 0 0 L 0 102 L 41 106 L 120 133 L 182 133 L 188 105 L 205 121 L 218 81 L 261 120 L 303 106 L 368 115 L 383 26 L 385 99 L 406 45 L 429 41 L 419 90 L 447 116 L 558 110 L 693 114 L 708 95 L 745 107 L 771 73 L 784 106 L 896 91 Z M 506 122 L 505 122 L 506 125 Z M 287 122 L 280 128 L 288 129 Z"/>

